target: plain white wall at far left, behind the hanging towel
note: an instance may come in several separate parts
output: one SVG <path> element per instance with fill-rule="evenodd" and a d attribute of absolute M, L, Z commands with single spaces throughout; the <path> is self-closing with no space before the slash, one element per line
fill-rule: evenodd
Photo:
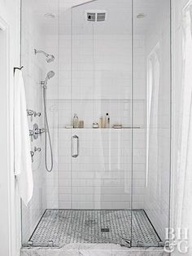
<path fill-rule="evenodd" d="M 20 66 L 20 1 L 0 1 L 0 17 L 7 23 L 6 61 L 1 72 L 7 73 L 7 83 L 1 79 L 1 182 L 0 182 L 0 254 L 19 255 L 20 249 L 20 200 L 15 190 L 13 170 L 13 68 Z M 1 38 L 2 39 L 2 38 Z M 2 49 L 1 49 L 2 50 Z M 3 51 L 3 50 L 2 50 Z M 6 51 L 6 49 L 4 49 Z M 3 138 L 3 139 L 2 139 Z"/>

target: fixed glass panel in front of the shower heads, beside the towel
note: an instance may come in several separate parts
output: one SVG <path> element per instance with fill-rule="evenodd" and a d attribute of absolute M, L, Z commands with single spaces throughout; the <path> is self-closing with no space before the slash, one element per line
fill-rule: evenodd
<path fill-rule="evenodd" d="M 49 6 L 21 1 L 21 65 L 33 161 L 33 198 L 21 206 L 23 245 L 58 245 L 50 232 L 59 231 L 59 218 L 50 225 L 50 210 L 58 208 L 58 7 L 55 0 Z"/>

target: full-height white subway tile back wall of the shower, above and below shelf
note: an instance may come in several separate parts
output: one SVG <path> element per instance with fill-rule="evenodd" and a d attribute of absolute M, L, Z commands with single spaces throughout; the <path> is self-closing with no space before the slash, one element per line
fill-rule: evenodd
<path fill-rule="evenodd" d="M 133 126 L 140 127 L 133 132 L 133 208 L 144 207 L 145 38 L 137 35 L 134 39 L 139 61 L 133 102 L 131 40 L 129 35 L 97 34 L 94 40 L 89 34 L 59 36 L 59 208 L 131 208 L 132 132 L 91 128 L 106 113 L 111 126 L 132 126 L 132 104 Z M 51 95 L 54 94 L 50 91 L 49 99 Z M 50 102 L 56 104 L 57 100 L 53 97 Z M 74 113 L 84 121 L 85 129 L 65 129 L 72 124 Z M 72 135 L 80 139 L 77 158 L 71 157 Z"/>

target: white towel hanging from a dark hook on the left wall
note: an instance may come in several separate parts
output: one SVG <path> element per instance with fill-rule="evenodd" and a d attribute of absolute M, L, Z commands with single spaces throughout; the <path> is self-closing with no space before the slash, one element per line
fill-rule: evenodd
<path fill-rule="evenodd" d="M 33 196 L 33 171 L 24 80 L 20 69 L 15 69 L 14 90 L 15 176 L 20 191 L 20 197 L 24 201 L 24 204 L 28 205 L 28 202 Z"/>

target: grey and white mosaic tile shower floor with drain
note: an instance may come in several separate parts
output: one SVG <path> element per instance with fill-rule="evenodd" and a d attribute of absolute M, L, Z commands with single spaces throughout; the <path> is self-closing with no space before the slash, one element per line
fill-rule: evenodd
<path fill-rule="evenodd" d="M 159 246 L 160 239 L 144 210 L 132 211 L 132 246 Z M 131 210 L 46 210 L 30 243 L 63 246 L 111 243 L 129 246 Z"/>

